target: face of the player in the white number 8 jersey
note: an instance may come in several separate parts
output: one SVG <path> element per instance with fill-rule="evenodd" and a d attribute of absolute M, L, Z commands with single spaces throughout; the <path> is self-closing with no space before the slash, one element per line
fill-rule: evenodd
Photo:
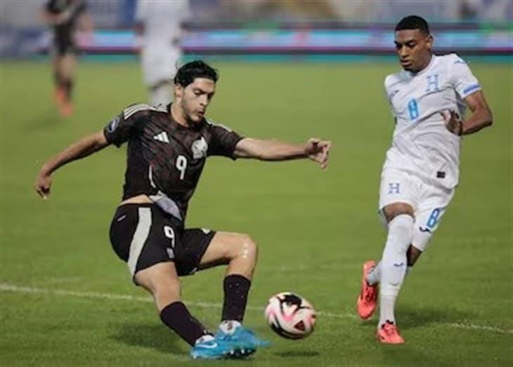
<path fill-rule="evenodd" d="M 420 72 L 431 60 L 433 37 L 420 29 L 396 31 L 394 40 L 399 62 L 408 72 Z"/>

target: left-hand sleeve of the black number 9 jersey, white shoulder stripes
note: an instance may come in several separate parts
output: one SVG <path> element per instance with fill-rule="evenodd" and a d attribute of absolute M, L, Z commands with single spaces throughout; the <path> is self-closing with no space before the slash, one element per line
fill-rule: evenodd
<path fill-rule="evenodd" d="M 122 144 L 141 133 L 145 116 L 148 114 L 148 105 L 131 105 L 126 107 L 121 114 L 115 116 L 105 128 L 105 139 L 121 147 Z"/>

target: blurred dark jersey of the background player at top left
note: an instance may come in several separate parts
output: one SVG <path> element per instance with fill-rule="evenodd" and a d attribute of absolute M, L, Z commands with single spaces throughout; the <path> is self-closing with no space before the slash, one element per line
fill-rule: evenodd
<path fill-rule="evenodd" d="M 79 16 L 86 11 L 85 0 L 48 0 L 46 10 L 58 15 L 67 12 L 65 22 L 54 25 L 55 39 L 60 44 L 73 44 L 72 33 Z"/>

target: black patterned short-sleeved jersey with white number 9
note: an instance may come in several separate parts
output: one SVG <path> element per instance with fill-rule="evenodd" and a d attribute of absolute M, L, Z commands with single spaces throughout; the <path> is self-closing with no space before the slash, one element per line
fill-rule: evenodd
<path fill-rule="evenodd" d="M 103 130 L 108 142 L 128 142 L 123 199 L 146 194 L 164 211 L 185 220 L 207 156 L 233 157 L 242 139 L 225 126 L 203 120 L 186 128 L 171 105 L 131 105 Z"/>

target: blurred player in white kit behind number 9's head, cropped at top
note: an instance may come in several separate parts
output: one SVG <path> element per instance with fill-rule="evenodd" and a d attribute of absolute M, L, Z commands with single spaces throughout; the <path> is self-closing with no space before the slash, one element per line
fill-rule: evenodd
<path fill-rule="evenodd" d="M 188 0 L 138 0 L 136 34 L 150 105 L 168 105 L 181 58 L 182 24 L 190 17 Z"/>

